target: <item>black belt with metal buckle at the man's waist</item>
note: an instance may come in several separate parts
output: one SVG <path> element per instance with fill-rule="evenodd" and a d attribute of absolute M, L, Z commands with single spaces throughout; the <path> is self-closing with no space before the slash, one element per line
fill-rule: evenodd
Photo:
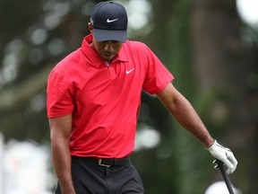
<path fill-rule="evenodd" d="M 80 160 L 85 161 L 85 162 L 93 162 L 97 163 L 99 166 L 105 166 L 105 167 L 110 167 L 110 166 L 121 166 L 125 165 L 130 162 L 129 156 L 125 156 L 123 158 L 95 158 L 95 157 L 77 157 L 73 156 L 73 158 L 80 158 Z"/>

